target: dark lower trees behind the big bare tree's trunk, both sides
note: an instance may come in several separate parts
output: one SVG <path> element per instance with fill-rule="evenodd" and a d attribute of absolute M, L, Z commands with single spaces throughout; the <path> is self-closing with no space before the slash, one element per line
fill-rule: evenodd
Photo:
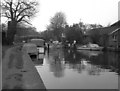
<path fill-rule="evenodd" d="M 7 38 L 8 25 L 0 24 L 1 34 L 2 34 L 2 45 L 8 45 L 9 39 Z M 23 23 L 18 24 L 16 28 L 16 34 L 14 36 L 14 42 L 22 42 L 23 40 L 28 40 L 33 37 L 39 37 L 39 32 L 36 31 L 35 27 L 25 25 Z"/>

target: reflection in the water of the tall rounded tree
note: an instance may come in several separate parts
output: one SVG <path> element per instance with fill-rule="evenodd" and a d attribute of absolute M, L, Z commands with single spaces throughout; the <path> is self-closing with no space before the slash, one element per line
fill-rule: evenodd
<path fill-rule="evenodd" d="M 52 57 L 50 61 L 50 70 L 54 73 L 55 77 L 63 77 L 64 76 L 64 65 L 62 62 L 62 53 L 60 50 L 54 51 L 50 57 Z"/>

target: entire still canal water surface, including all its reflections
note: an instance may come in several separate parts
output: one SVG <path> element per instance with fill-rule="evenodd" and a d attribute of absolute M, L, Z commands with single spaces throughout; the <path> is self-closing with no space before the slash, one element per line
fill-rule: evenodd
<path fill-rule="evenodd" d="M 120 55 L 52 49 L 34 61 L 47 89 L 118 89 Z"/>

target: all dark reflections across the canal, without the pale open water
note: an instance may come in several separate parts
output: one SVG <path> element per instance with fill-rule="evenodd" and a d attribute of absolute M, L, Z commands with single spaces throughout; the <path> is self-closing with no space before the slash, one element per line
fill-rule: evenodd
<path fill-rule="evenodd" d="M 120 74 L 119 53 L 99 52 L 86 50 L 52 50 L 47 53 L 47 62 L 50 71 L 55 77 L 63 77 L 65 68 L 73 69 L 78 73 L 87 71 L 89 75 L 100 75 L 101 72 L 116 72 Z M 36 65 L 43 65 L 44 55 L 39 54 L 39 59 L 34 60 Z"/>

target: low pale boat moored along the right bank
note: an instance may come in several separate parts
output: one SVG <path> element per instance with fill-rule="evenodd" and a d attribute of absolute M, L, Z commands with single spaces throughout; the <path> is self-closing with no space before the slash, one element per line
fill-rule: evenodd
<path fill-rule="evenodd" d="M 83 46 L 78 46 L 77 50 L 102 51 L 103 47 L 100 47 L 97 44 L 87 44 L 87 45 L 83 45 Z"/>

